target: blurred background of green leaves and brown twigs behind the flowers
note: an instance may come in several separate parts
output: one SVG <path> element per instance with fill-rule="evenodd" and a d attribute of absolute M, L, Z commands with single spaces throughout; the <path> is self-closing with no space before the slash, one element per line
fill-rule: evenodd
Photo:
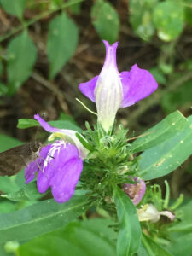
<path fill-rule="evenodd" d="M 189 116 L 191 0 L 0 0 L 0 151 L 36 138 L 36 129 L 16 128 L 18 119 L 34 113 L 81 128 L 85 120 L 96 122 L 75 97 L 96 111 L 78 85 L 101 71 L 102 39 L 119 41 L 119 71 L 137 63 L 159 84 L 152 96 L 119 110 L 130 133 L 141 134 L 176 109 Z M 167 176 L 172 198 L 191 194 L 191 172 L 187 160 Z"/>

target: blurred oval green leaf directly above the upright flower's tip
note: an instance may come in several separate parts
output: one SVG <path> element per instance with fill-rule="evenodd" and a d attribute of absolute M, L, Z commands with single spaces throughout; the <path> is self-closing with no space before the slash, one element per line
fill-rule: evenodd
<path fill-rule="evenodd" d="M 111 3 L 99 0 L 91 9 L 91 20 L 101 39 L 113 44 L 119 35 L 119 15 Z"/>

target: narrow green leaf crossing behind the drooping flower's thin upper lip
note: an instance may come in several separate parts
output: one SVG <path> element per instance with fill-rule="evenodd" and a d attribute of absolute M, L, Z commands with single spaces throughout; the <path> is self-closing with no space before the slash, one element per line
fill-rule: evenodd
<path fill-rule="evenodd" d="M 79 131 L 79 132 L 82 131 L 78 125 L 75 125 L 70 120 L 49 121 L 48 124 L 58 129 L 68 129 L 68 130 Z M 26 129 L 26 128 L 35 127 L 35 126 L 40 126 L 40 125 L 38 121 L 34 119 L 19 119 L 17 124 L 17 128 L 20 128 L 20 129 Z"/>

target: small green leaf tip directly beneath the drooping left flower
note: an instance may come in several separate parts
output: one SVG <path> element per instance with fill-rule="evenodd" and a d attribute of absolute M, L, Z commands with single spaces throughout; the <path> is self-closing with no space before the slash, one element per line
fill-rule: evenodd
<path fill-rule="evenodd" d="M 10 201 L 35 201 L 38 198 L 44 196 L 44 194 L 40 194 L 37 189 L 36 182 L 29 183 L 24 185 L 22 189 L 11 192 L 8 194 L 1 195 L 3 198 L 7 198 Z"/>

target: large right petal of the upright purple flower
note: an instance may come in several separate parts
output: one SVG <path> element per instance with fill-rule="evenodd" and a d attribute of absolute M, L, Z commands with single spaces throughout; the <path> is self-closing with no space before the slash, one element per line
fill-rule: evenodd
<path fill-rule="evenodd" d="M 152 74 L 145 69 L 137 67 L 137 64 L 131 67 L 130 72 L 120 73 L 120 77 L 124 92 L 121 108 L 135 104 L 149 96 L 158 87 Z"/>

